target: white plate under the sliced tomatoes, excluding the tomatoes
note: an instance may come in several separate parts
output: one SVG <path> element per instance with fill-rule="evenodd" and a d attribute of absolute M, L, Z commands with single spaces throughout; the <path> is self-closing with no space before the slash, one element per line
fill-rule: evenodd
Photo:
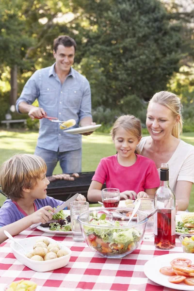
<path fill-rule="evenodd" d="M 191 259 L 192 263 L 194 263 L 194 254 L 169 254 L 157 256 L 153 259 L 150 259 L 146 262 L 144 266 L 144 273 L 153 282 L 160 284 L 164 287 L 176 289 L 176 290 L 186 290 L 186 291 L 194 291 L 194 286 L 189 286 L 184 283 L 174 284 L 168 281 L 170 276 L 166 276 L 160 273 L 160 268 L 162 267 L 170 267 L 170 262 L 173 259 L 177 258 L 186 258 Z M 157 289 L 157 287 L 156 287 Z"/>

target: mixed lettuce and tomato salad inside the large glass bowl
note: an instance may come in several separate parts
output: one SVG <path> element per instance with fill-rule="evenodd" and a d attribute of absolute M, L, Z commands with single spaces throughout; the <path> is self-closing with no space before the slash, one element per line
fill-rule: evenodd
<path fill-rule="evenodd" d="M 141 233 L 132 227 L 122 228 L 120 223 L 122 222 L 115 221 L 114 228 L 113 224 L 106 220 L 106 214 L 102 214 L 99 218 L 93 214 L 90 220 L 92 226 L 83 226 L 88 245 L 97 252 L 109 256 L 136 249 Z M 104 226 L 110 226 L 110 228 Z M 118 226 L 120 228 L 116 228 Z"/>

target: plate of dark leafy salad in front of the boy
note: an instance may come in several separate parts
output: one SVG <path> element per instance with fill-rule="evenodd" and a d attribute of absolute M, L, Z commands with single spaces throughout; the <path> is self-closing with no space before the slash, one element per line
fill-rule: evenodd
<path fill-rule="evenodd" d="M 52 220 L 45 225 L 41 224 L 37 229 L 48 233 L 72 233 L 70 210 L 60 210 L 52 216 Z"/>

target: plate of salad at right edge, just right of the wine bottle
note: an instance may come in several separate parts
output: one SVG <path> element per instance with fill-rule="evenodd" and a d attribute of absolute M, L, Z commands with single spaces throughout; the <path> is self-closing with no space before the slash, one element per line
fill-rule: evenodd
<path fill-rule="evenodd" d="M 176 234 L 194 234 L 194 212 L 176 215 Z"/>

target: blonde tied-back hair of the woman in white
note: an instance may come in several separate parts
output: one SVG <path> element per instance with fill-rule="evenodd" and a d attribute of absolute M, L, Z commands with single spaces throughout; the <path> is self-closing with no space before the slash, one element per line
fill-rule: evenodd
<path fill-rule="evenodd" d="M 172 129 L 172 135 L 176 138 L 179 138 L 180 133 L 182 132 L 182 104 L 180 102 L 180 98 L 171 92 L 161 91 L 156 94 L 150 99 L 149 103 L 158 103 L 160 105 L 166 106 L 169 108 L 174 117 L 179 116 L 180 119 L 178 123 Z M 148 105 L 149 106 L 149 105 Z"/>

